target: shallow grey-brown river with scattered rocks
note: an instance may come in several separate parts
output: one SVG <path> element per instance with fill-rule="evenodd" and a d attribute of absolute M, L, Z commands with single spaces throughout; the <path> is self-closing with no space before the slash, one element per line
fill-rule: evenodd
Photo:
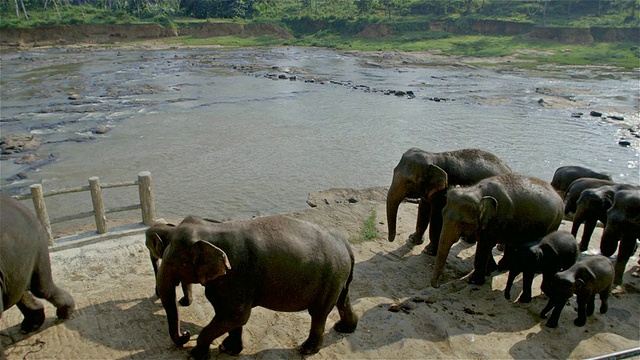
<path fill-rule="evenodd" d="M 307 208 L 309 192 L 388 186 L 414 146 L 482 148 L 547 181 L 561 165 L 639 181 L 637 150 L 618 145 L 618 126 L 588 115 L 639 123 L 637 78 L 374 66 L 304 48 L 50 48 L 3 53 L 1 61 L 2 136 L 31 132 L 43 139 L 38 153 L 55 155 L 12 183 L 6 179 L 25 166 L 4 158 L 2 187 L 11 193 L 34 182 L 48 191 L 149 171 L 159 217 L 282 213 Z M 101 125 L 108 131 L 95 134 Z M 107 207 L 123 206 L 137 190 L 106 189 L 104 197 Z M 54 218 L 90 204 L 87 193 L 47 198 Z"/>

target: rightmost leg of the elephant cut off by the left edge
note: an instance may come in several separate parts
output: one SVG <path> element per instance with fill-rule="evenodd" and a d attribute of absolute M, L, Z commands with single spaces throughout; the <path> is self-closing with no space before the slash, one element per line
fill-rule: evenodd
<path fill-rule="evenodd" d="M 51 263 L 48 255 L 46 260 L 40 257 L 39 271 L 31 278 L 31 292 L 36 297 L 46 299 L 56 307 L 56 315 L 59 319 L 68 319 L 75 309 L 73 297 L 65 290 L 56 286 L 51 277 Z"/>

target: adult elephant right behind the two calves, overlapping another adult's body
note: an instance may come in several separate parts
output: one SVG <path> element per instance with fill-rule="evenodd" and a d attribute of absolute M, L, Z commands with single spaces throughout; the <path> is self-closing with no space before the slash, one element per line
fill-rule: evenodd
<path fill-rule="evenodd" d="M 434 181 L 436 178 L 440 186 L 446 185 L 444 171 L 433 176 Z M 449 250 L 463 236 L 475 238 L 477 243 L 469 282 L 482 285 L 496 243 L 505 245 L 507 258 L 511 246 L 535 241 L 557 230 L 562 221 L 562 199 L 547 182 L 510 173 L 481 180 L 473 186 L 449 189 L 442 218 L 431 286 L 439 286 Z"/>

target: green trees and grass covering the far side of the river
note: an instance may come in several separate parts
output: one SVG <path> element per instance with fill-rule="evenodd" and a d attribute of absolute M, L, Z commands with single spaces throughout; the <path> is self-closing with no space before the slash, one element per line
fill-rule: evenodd
<path fill-rule="evenodd" d="M 27 19 L 28 16 L 28 19 Z M 640 66 L 637 39 L 591 45 L 480 36 L 474 24 L 635 28 L 640 0 L 2 0 L 0 28 L 157 23 L 271 22 L 294 37 L 179 37 L 169 43 L 223 46 L 320 46 L 339 50 L 434 51 L 475 58 L 513 56 L 537 63 Z M 380 36 L 354 36 L 371 25 Z M 434 30 L 440 29 L 440 30 Z M 632 30 L 632 32 L 637 30 Z M 498 31 L 499 32 L 499 31 Z M 491 32 L 488 32 L 491 34 Z M 485 35 L 486 32 L 485 32 Z M 537 50 L 525 52 L 524 50 Z M 506 61 L 506 60 L 505 60 Z M 482 61 L 479 60 L 478 64 Z M 526 66 L 519 63 L 518 66 Z"/>

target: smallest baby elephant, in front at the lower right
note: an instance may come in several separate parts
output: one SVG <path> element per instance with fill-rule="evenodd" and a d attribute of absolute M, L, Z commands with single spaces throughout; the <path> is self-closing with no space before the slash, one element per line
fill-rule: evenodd
<path fill-rule="evenodd" d="M 614 269 L 611 261 L 602 255 L 588 256 L 565 271 L 557 273 L 545 288 L 549 302 L 540 312 L 540 317 L 547 318 L 553 309 L 547 326 L 558 326 L 558 319 L 565 304 L 577 295 L 578 317 L 573 321 L 576 326 L 584 326 L 587 316 L 593 315 L 596 294 L 600 295 L 600 313 L 609 309 L 608 299 L 613 283 Z"/>

